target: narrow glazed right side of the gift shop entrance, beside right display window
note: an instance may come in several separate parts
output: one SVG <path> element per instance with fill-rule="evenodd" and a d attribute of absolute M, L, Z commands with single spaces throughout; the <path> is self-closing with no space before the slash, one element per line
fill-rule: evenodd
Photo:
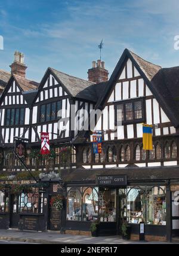
<path fill-rule="evenodd" d="M 118 234 L 121 234 L 121 225 L 127 218 L 126 195 L 119 190 Z"/>

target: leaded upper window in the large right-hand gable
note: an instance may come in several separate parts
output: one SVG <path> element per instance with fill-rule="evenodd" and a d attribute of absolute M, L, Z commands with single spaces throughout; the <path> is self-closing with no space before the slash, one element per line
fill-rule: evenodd
<path fill-rule="evenodd" d="M 116 103 L 116 120 L 122 121 L 122 123 L 140 123 L 144 121 L 143 99 Z"/>

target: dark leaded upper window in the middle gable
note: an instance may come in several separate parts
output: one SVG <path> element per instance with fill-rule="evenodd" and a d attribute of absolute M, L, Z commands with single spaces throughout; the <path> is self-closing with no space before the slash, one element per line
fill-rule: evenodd
<path fill-rule="evenodd" d="M 62 101 L 41 105 L 41 123 L 57 119 L 58 111 L 62 109 Z"/>

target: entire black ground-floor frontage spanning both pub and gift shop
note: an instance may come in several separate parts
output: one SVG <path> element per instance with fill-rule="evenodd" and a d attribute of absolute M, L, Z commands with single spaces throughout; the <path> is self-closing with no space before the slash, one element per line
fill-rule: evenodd
<path fill-rule="evenodd" d="M 168 170 L 109 169 L 104 175 L 103 170 L 76 169 L 65 173 L 63 182 L 43 180 L 41 187 L 32 185 L 18 194 L 11 193 L 7 184 L 0 191 L 0 228 L 90 235 L 91 222 L 98 220 L 98 235 L 107 236 L 121 234 L 121 224 L 127 221 L 132 227 L 131 238 L 138 240 L 139 223 L 144 222 L 146 240 L 171 240 L 179 234 L 177 225 L 174 228 L 179 217 L 172 217 L 179 184 L 168 178 L 178 170 Z M 153 178 L 157 171 L 164 179 Z M 58 196 L 63 198 L 60 211 L 52 203 Z M 175 208 L 177 212 L 178 206 Z"/>

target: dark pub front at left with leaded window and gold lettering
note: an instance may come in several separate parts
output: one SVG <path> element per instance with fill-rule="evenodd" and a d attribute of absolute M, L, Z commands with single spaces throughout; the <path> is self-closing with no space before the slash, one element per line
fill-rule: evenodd
<path fill-rule="evenodd" d="M 54 206 L 55 203 L 58 207 Z M 63 187 L 60 181 L 2 181 L 0 229 L 60 231 L 62 204 Z"/>

